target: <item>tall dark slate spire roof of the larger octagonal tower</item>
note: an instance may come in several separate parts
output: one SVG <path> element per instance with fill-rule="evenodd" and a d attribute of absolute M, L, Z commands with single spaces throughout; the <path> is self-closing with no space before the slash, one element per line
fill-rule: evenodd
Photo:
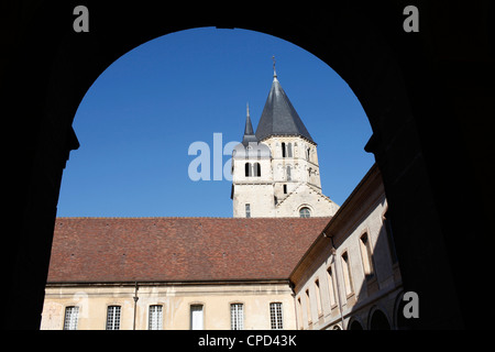
<path fill-rule="evenodd" d="M 315 143 L 282 89 L 276 74 L 256 129 L 256 138 L 260 141 L 271 135 L 300 135 Z"/>

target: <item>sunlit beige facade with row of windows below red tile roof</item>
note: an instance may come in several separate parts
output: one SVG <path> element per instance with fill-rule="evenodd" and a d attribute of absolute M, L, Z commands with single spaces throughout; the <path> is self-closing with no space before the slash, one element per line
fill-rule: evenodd
<path fill-rule="evenodd" d="M 64 329 L 66 308 L 78 307 L 78 330 L 105 330 L 108 328 L 108 307 L 120 307 L 119 330 L 148 330 L 153 327 L 190 330 L 191 309 L 201 307 L 202 329 L 230 330 L 231 305 L 242 305 L 242 329 L 270 330 L 274 319 L 271 304 L 280 307 L 283 329 L 296 328 L 294 298 L 288 280 L 138 283 L 138 290 L 135 287 L 132 283 L 48 285 L 41 329 Z M 134 297 L 138 297 L 136 304 Z M 156 306 L 160 307 L 160 322 L 154 326 L 151 320 Z"/>

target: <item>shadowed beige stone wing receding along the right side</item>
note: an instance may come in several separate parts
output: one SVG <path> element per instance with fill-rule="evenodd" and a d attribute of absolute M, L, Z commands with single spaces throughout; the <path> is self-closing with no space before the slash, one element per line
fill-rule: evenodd
<path fill-rule="evenodd" d="M 376 166 L 290 275 L 298 329 L 402 328 L 402 279 Z M 378 317 L 378 318 L 377 318 Z"/>

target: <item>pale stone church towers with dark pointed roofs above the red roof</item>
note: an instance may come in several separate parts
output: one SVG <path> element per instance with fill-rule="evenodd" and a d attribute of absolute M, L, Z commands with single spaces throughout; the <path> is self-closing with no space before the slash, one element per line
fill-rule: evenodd
<path fill-rule="evenodd" d="M 234 218 L 330 217 L 339 207 L 321 191 L 317 143 L 274 74 L 254 132 L 250 110 L 232 155 Z"/>

